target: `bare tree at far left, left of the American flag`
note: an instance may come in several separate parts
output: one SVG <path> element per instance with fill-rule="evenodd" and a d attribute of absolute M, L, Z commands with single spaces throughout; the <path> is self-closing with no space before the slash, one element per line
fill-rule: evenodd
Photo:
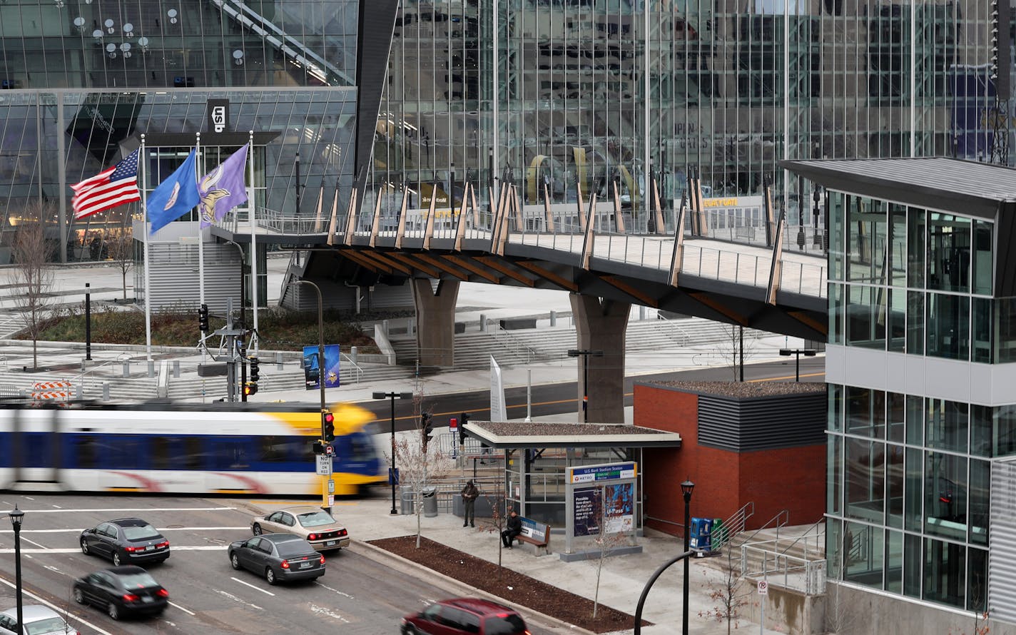
<path fill-rule="evenodd" d="M 21 312 L 24 327 L 31 337 L 31 367 L 39 368 L 39 335 L 50 313 L 53 269 L 49 256 L 52 248 L 46 242 L 46 228 L 38 220 L 45 218 L 45 209 L 29 209 L 36 219 L 22 220 L 14 235 L 12 255 L 15 284 L 14 306 Z"/>

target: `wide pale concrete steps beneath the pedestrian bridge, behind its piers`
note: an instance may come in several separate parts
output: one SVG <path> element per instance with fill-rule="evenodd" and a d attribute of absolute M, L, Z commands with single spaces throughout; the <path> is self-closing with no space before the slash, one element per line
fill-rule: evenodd
<path fill-rule="evenodd" d="M 746 329 L 745 338 L 756 337 L 761 333 Z M 628 323 L 626 337 L 627 352 L 674 351 L 700 344 L 732 342 L 736 334 L 737 331 L 729 325 L 698 318 L 631 321 Z M 394 335 L 391 343 L 400 365 L 415 364 L 417 340 L 414 335 Z M 501 367 L 563 361 L 568 358 L 568 350 L 575 345 L 574 326 L 504 330 L 496 323 L 491 323 L 487 331 L 468 331 L 455 335 L 454 370 L 488 369 L 491 356 Z"/>

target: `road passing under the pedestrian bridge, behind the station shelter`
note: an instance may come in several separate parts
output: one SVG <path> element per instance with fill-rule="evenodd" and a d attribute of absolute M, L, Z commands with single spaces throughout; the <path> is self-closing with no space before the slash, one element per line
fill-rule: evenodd
<path fill-rule="evenodd" d="M 731 381 L 734 373 L 729 368 L 695 368 L 687 371 L 636 375 L 625 378 L 625 405 L 632 404 L 634 382 L 663 380 L 685 381 Z M 793 361 L 753 364 L 745 366 L 745 381 L 792 381 L 797 377 Z M 825 381 L 825 358 L 803 358 L 800 378 L 802 381 Z M 522 419 L 526 415 L 526 389 L 524 386 L 505 389 L 505 403 L 509 419 Z M 576 382 L 560 382 L 534 385 L 530 389 L 532 417 L 573 414 L 578 405 Z M 384 430 L 391 420 L 389 399 L 360 401 L 360 405 L 374 412 Z M 414 415 L 414 403 L 409 399 L 395 399 L 395 429 L 414 430 L 419 424 Z M 491 396 L 487 390 L 431 395 L 425 398 L 423 408 L 432 408 L 435 425 L 446 426 L 448 418 L 469 412 L 475 421 L 488 421 L 491 415 Z"/>

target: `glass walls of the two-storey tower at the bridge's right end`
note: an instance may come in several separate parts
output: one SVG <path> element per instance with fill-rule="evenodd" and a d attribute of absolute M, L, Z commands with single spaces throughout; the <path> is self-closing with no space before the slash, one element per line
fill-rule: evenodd
<path fill-rule="evenodd" d="M 991 295 L 993 223 L 829 196 L 831 342 L 1012 361 L 1011 299 Z M 829 395 L 829 575 L 983 611 L 990 459 L 1016 451 L 1013 407 L 854 386 Z"/>

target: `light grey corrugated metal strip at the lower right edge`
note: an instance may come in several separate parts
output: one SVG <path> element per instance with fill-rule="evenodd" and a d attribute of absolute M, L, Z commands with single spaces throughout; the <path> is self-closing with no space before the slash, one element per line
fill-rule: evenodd
<path fill-rule="evenodd" d="M 988 610 L 993 620 L 1016 623 L 1016 460 L 992 463 L 988 550 Z"/>

